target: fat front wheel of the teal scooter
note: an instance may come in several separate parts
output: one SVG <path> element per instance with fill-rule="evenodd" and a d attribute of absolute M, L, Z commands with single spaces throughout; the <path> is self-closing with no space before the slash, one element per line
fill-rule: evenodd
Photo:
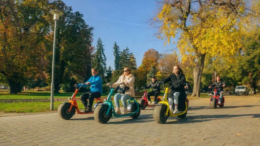
<path fill-rule="evenodd" d="M 97 105 L 94 110 L 94 119 L 101 124 L 107 123 L 112 117 L 112 109 L 110 109 L 108 115 L 106 115 L 107 110 L 108 105 Z"/>

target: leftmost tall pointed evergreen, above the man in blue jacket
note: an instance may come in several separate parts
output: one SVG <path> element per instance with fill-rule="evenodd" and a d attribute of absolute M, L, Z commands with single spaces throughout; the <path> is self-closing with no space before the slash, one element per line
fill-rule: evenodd
<path fill-rule="evenodd" d="M 94 61 L 93 61 L 93 67 L 97 69 L 99 72 L 99 75 L 101 76 L 102 79 L 105 77 L 106 73 L 106 61 L 107 58 L 104 53 L 104 48 L 103 48 L 102 40 L 98 38 L 97 40 L 97 46 L 96 46 L 96 52 L 94 54 Z"/>

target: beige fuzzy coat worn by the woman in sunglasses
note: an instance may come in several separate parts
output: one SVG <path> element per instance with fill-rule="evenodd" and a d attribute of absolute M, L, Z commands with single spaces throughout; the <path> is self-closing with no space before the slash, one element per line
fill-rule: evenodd
<path fill-rule="evenodd" d="M 125 94 L 134 97 L 134 76 L 132 74 L 129 74 L 128 76 L 122 75 L 119 77 L 118 81 L 112 84 L 112 87 L 115 88 L 117 87 L 120 83 L 125 83 L 127 87 L 129 87 L 129 90 L 126 90 Z M 120 85 L 123 87 L 124 85 Z"/>

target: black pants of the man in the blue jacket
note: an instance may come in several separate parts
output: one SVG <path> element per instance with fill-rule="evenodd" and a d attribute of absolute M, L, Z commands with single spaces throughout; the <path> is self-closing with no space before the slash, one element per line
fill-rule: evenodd
<path fill-rule="evenodd" d="M 84 105 L 85 109 L 87 109 L 87 107 L 92 108 L 94 98 L 99 98 L 100 96 L 101 96 L 101 93 L 98 91 L 91 92 L 91 93 L 87 92 L 87 93 L 80 95 L 80 100 L 81 100 L 82 104 Z M 87 101 L 87 99 L 89 100 L 89 102 Z"/>

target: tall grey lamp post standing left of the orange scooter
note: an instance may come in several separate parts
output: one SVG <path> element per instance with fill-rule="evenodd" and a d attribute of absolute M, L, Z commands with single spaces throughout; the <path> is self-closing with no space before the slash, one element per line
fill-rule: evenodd
<path fill-rule="evenodd" d="M 54 15 L 54 42 L 53 42 L 53 56 L 52 56 L 52 73 L 51 73 L 51 95 L 50 95 L 50 110 L 53 110 L 53 97 L 54 97 L 54 65 L 55 65 L 55 47 L 56 47 L 56 27 L 59 20 L 59 16 L 63 15 L 62 11 L 51 10 L 51 14 Z"/>

